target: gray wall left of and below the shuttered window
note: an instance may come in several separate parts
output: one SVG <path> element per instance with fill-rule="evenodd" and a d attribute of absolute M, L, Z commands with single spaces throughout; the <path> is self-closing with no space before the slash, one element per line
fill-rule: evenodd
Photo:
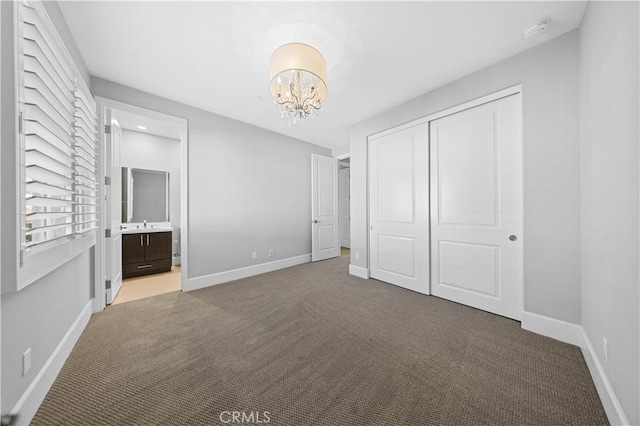
<path fill-rule="evenodd" d="M 14 2 L 0 2 L 2 7 L 2 282 L 16 279 L 16 145 L 13 73 Z M 58 28 L 66 27 L 52 15 Z M 65 40 L 68 42 L 68 40 Z M 69 46 L 69 45 L 68 45 Z M 93 285 L 90 276 L 92 251 L 82 253 L 60 269 L 30 284 L 20 292 L 2 295 L 2 413 L 8 412 L 31 384 L 51 356 L 86 303 Z M 31 370 L 21 377 L 22 353 L 31 348 Z"/>

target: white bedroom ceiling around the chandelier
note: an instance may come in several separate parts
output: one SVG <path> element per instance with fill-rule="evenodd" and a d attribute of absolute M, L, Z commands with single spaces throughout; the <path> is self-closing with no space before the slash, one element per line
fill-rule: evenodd
<path fill-rule="evenodd" d="M 60 1 L 89 72 L 329 148 L 349 127 L 577 28 L 585 2 Z M 549 18 L 532 39 L 524 28 Z M 327 59 L 320 115 L 289 126 L 268 92 L 281 44 Z"/>

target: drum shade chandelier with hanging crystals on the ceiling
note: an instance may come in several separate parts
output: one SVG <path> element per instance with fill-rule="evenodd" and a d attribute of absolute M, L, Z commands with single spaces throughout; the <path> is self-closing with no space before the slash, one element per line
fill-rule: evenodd
<path fill-rule="evenodd" d="M 269 89 L 289 125 L 315 117 L 327 96 L 327 62 L 308 44 L 282 45 L 271 55 Z"/>

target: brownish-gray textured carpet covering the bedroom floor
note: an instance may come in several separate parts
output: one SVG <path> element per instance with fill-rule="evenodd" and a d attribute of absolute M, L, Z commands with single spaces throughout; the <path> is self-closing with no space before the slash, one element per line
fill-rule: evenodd
<path fill-rule="evenodd" d="M 579 348 L 347 268 L 111 306 L 33 424 L 607 424 Z"/>

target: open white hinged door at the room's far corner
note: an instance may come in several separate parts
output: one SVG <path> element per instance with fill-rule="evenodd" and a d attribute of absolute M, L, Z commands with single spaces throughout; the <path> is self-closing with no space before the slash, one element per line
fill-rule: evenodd
<path fill-rule="evenodd" d="M 340 256 L 338 160 L 311 154 L 311 260 Z"/>

